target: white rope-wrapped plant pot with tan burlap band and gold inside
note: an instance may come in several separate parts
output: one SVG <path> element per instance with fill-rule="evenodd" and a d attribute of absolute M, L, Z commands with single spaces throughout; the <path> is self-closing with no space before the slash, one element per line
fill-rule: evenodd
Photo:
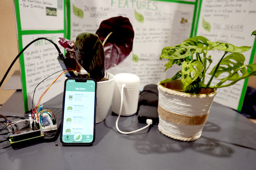
<path fill-rule="evenodd" d="M 180 141 L 195 141 L 202 135 L 213 98 L 214 89 L 199 94 L 182 92 L 181 80 L 158 84 L 158 129 Z"/>

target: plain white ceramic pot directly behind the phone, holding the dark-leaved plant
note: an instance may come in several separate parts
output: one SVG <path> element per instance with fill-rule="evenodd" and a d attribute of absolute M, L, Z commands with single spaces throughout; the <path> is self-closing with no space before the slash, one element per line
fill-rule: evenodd
<path fill-rule="evenodd" d="M 96 123 L 104 121 L 111 106 L 114 93 L 114 75 L 106 73 L 106 81 L 97 82 Z"/>

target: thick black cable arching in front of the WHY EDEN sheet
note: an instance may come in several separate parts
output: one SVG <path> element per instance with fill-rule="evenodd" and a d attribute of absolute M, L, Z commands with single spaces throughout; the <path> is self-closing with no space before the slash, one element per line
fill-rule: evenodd
<path fill-rule="evenodd" d="M 58 50 L 59 52 L 59 56 L 62 56 L 63 57 L 63 54 L 61 53 L 59 47 L 57 46 L 57 44 L 55 44 L 55 42 L 53 42 L 52 40 L 50 40 L 49 38 L 45 38 L 45 37 L 41 37 L 41 38 L 37 38 L 35 40 L 33 40 L 32 42 L 30 42 L 25 48 L 23 48 L 20 53 L 14 58 L 13 62 L 11 63 L 11 65 L 9 66 L 9 68 L 7 69 L 3 79 L 1 80 L 0 82 L 0 87 L 2 86 L 3 82 L 4 82 L 4 79 L 6 79 L 6 76 L 7 74 L 9 73 L 10 69 L 12 68 L 13 64 L 15 63 L 15 61 L 20 57 L 20 55 L 25 51 L 25 49 L 27 49 L 31 44 L 33 44 L 34 42 L 36 42 L 37 40 L 42 40 L 42 39 L 45 39 L 45 40 L 48 40 L 50 41 L 52 44 L 54 44 L 54 46 L 56 47 L 56 49 Z"/>

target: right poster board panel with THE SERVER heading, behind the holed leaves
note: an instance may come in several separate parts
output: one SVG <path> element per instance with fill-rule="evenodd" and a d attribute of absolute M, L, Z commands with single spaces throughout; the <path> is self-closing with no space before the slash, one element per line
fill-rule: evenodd
<path fill-rule="evenodd" d="M 227 0 L 225 2 L 200 0 L 195 36 L 202 35 L 210 41 L 228 42 L 235 46 L 252 46 L 249 51 L 242 53 L 245 56 L 244 63 L 251 64 L 256 49 L 255 36 L 251 37 L 252 31 L 256 29 L 255 7 L 256 1 L 252 0 Z M 223 54 L 224 51 L 208 51 L 208 55 L 211 55 L 212 58 L 214 57 L 213 63 L 208 69 L 209 72 Z M 219 78 L 222 78 L 221 76 Z M 209 79 L 210 75 L 207 74 L 206 82 Z M 215 79 L 211 84 L 217 84 L 219 81 Z M 247 82 L 248 79 L 243 79 L 233 86 L 217 89 L 217 95 L 213 101 L 241 111 Z"/>

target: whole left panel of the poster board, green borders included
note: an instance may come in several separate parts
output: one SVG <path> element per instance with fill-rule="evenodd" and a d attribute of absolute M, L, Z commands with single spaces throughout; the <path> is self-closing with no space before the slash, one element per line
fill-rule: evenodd
<path fill-rule="evenodd" d="M 65 37 L 64 0 L 14 0 L 14 2 L 19 51 L 32 40 L 39 37 L 50 38 L 56 44 L 58 44 L 58 37 Z M 59 46 L 59 48 L 62 53 L 64 53 L 64 49 L 61 48 L 61 46 Z M 57 57 L 58 51 L 54 45 L 47 40 L 39 40 L 33 43 L 20 56 L 20 72 L 25 112 L 32 108 L 33 92 L 37 84 L 56 71 L 62 70 Z M 58 74 L 46 79 L 37 87 L 33 107 L 35 107 L 40 96 L 56 77 L 58 77 Z M 60 77 L 48 90 L 41 100 L 41 103 L 63 92 L 63 81 L 64 76 Z"/>

